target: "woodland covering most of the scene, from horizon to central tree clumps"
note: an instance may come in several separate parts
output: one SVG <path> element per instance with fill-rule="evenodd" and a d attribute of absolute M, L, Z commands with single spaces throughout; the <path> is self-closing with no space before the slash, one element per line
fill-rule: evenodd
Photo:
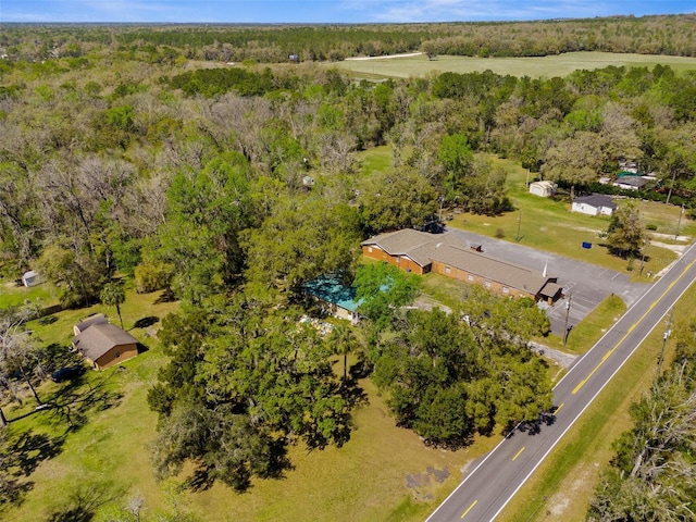
<path fill-rule="evenodd" d="M 417 285 L 360 266 L 360 240 L 422 227 L 443 206 L 513 210 L 505 171 L 483 152 L 575 194 L 632 161 L 656 176 L 636 194 L 691 212 L 696 72 L 369 83 L 313 61 L 411 50 L 695 55 L 693 22 L 9 25 L 0 34 L 0 271 L 17 279 L 38 270 L 69 308 L 101 301 L 120 314 L 124 278 L 181 300 L 160 333 L 171 363 L 148 396 L 160 414 L 161 476 L 187 462 L 192 487 L 244 490 L 253 477 L 282 476 L 289 445 L 349 439 L 366 375 L 400 425 L 431 444 L 465 445 L 551 407 L 544 363 L 525 348 L 547 320 L 531 301 L 476 290 L 450 315 L 403 312 Z M 306 62 L 287 63 L 291 52 Z M 394 169 L 364 172 L 356 152 L 385 144 Z M 325 274 L 356 281 L 365 298 L 355 332 L 322 337 L 298 326 L 312 311 L 306 285 Z M 28 361 L 38 369 L 30 384 L 45 374 L 20 316 L 0 318 L 2 380 L 17 369 L 26 377 Z M 360 363 L 341 378 L 331 358 L 349 353 Z"/>

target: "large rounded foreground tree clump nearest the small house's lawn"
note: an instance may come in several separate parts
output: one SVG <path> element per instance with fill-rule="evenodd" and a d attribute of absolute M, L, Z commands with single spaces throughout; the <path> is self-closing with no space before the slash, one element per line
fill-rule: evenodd
<path fill-rule="evenodd" d="M 217 480 L 244 490 L 253 476 L 283 476 L 290 444 L 348 440 L 360 396 L 333 372 L 332 346 L 290 314 L 233 299 L 165 319 L 160 338 L 171 362 L 148 395 L 160 413 L 161 475 L 195 462 L 195 487 Z"/>

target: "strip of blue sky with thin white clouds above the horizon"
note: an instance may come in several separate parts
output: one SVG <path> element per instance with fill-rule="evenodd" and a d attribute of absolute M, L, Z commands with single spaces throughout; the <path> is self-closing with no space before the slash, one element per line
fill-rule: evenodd
<path fill-rule="evenodd" d="M 696 13 L 696 0 L 0 0 L 0 23 L 352 24 L 684 13 Z"/>

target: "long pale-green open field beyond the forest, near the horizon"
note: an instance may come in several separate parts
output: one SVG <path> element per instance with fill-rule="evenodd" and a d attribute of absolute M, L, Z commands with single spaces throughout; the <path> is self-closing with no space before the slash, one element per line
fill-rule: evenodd
<path fill-rule="evenodd" d="M 654 54 L 618 54 L 611 52 L 569 52 L 538 58 L 469 58 L 442 55 L 428 60 L 425 54 L 409 58 L 378 60 L 345 60 L 332 63 L 351 72 L 359 78 L 380 79 L 387 77 L 424 77 L 445 72 L 474 73 L 493 71 L 496 74 L 551 78 L 567 76 L 577 70 L 604 69 L 609 65 L 652 69 L 657 64 L 669 65 L 683 72 L 696 69 L 696 58 L 664 57 Z"/>

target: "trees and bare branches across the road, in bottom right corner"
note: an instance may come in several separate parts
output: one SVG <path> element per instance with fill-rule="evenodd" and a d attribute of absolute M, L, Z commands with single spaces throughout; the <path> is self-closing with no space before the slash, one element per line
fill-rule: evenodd
<path fill-rule="evenodd" d="M 694 520 L 696 494 L 696 324 L 673 334 L 676 357 L 631 407 L 633 428 L 613 444 L 616 455 L 591 502 L 587 520 Z"/>

